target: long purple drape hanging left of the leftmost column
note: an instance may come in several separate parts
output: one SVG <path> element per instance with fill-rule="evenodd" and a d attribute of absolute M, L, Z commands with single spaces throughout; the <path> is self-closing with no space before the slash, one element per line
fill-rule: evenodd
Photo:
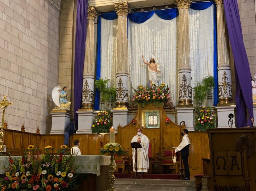
<path fill-rule="evenodd" d="M 74 72 L 74 118 L 76 129 L 78 129 L 78 115 L 76 111 L 81 108 L 82 86 L 84 71 L 84 53 L 87 29 L 87 2 L 88 0 L 77 0 L 76 16 L 76 45 L 75 45 L 75 72 Z"/>

